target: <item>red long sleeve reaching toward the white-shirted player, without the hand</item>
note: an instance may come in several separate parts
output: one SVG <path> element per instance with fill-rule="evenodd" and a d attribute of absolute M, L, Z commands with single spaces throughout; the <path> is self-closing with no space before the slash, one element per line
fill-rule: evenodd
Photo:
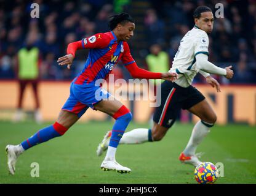
<path fill-rule="evenodd" d="M 145 69 L 141 69 L 137 66 L 136 62 L 133 62 L 126 66 L 126 69 L 130 72 L 130 75 L 134 78 L 145 78 L 145 79 L 161 79 L 161 73 L 149 72 Z"/>

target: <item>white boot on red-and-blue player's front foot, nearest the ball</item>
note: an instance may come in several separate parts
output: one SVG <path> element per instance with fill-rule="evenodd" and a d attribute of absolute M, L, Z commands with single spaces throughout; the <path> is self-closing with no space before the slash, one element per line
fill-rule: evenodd
<path fill-rule="evenodd" d="M 102 165 L 100 165 L 100 167 L 104 171 L 114 170 L 119 173 L 130 173 L 131 171 L 130 168 L 118 164 L 116 160 L 103 160 Z"/>

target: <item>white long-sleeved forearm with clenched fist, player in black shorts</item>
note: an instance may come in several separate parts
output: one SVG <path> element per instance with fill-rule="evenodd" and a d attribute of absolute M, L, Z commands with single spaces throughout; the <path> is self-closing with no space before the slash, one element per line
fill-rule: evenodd
<path fill-rule="evenodd" d="M 208 56 L 204 54 L 196 55 L 196 65 L 200 70 L 203 70 L 204 72 L 207 72 L 209 74 L 223 75 L 228 79 L 231 79 L 234 75 L 233 70 L 231 70 L 232 66 L 225 67 L 225 69 L 217 67 L 209 62 Z"/>

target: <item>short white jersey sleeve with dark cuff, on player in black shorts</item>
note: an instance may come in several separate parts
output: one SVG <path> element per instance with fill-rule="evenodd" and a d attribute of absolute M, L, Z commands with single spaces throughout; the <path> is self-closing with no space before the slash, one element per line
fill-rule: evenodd
<path fill-rule="evenodd" d="M 201 32 L 196 39 L 194 40 L 194 56 L 198 54 L 209 55 L 208 47 L 209 47 L 209 39 L 206 32 Z"/>

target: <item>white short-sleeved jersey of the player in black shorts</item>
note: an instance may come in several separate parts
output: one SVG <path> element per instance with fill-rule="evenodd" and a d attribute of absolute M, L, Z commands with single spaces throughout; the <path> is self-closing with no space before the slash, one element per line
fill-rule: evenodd
<path fill-rule="evenodd" d="M 178 74 L 178 80 L 175 81 L 177 85 L 185 88 L 191 85 L 193 78 L 199 72 L 196 67 L 196 55 L 200 53 L 209 55 L 208 45 L 207 33 L 196 25 L 182 38 L 172 68 L 169 70 Z"/>

